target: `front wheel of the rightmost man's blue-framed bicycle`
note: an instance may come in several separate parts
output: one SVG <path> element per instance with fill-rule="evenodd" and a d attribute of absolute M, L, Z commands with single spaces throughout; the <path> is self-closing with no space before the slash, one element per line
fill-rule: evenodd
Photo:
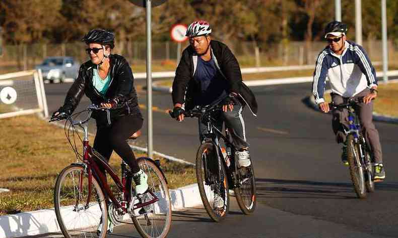
<path fill-rule="evenodd" d="M 366 197 L 365 190 L 365 176 L 363 167 L 361 164 L 358 165 L 359 158 L 359 144 L 354 141 L 354 135 L 348 135 L 347 137 L 347 160 L 350 168 L 350 176 L 354 185 L 355 193 L 358 198 Z"/>

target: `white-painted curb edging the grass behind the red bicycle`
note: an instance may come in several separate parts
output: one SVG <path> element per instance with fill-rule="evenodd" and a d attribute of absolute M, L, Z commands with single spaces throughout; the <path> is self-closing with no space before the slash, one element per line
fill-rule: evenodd
<path fill-rule="evenodd" d="M 170 190 L 172 210 L 202 204 L 197 184 Z M 21 237 L 60 232 L 54 209 L 0 216 L 0 237 Z"/>

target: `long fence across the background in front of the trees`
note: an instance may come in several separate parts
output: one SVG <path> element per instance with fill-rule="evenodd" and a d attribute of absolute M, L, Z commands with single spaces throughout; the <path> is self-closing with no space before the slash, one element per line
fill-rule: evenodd
<path fill-rule="evenodd" d="M 127 58 L 132 66 L 143 65 L 146 61 L 145 42 L 116 42 L 113 50 Z M 182 43 L 183 50 L 188 42 Z M 255 42 L 227 42 L 234 52 L 239 63 L 243 67 L 260 67 L 272 65 L 303 65 L 314 64 L 318 53 L 325 47 L 325 42 L 284 42 L 279 44 L 255 44 Z M 381 61 L 381 41 L 365 41 L 363 44 L 372 61 Z M 65 44 L 32 44 L 4 46 L 0 72 L 12 72 L 33 69 L 35 65 L 42 62 L 48 56 L 72 56 L 79 62 L 88 60 L 82 42 Z M 152 54 L 154 71 L 161 69 L 165 64 L 174 68 L 177 63 L 177 43 L 175 42 L 153 42 Z M 390 41 L 388 44 L 388 55 L 390 63 L 397 63 L 398 42 Z M 156 67 L 159 66 L 159 67 Z M 139 70 L 139 71 L 145 71 Z"/>

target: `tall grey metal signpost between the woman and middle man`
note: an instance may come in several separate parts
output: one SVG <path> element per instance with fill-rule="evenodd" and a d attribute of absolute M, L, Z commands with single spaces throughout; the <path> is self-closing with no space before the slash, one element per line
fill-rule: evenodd
<path fill-rule="evenodd" d="M 148 157 L 153 157 L 152 131 L 152 30 L 151 30 L 151 0 L 147 1 L 147 116 L 148 116 Z"/>

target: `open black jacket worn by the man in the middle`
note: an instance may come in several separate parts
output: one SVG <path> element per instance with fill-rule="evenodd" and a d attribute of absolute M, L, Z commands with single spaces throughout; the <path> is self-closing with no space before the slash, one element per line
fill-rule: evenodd
<path fill-rule="evenodd" d="M 219 41 L 212 40 L 210 46 L 217 69 L 220 71 L 221 75 L 228 80 L 229 92 L 238 93 L 241 100 L 243 100 L 243 102 L 249 106 L 251 112 L 256 115 L 257 102 L 254 94 L 242 81 L 239 63 L 235 56 L 225 44 Z M 198 56 L 191 46 L 185 48 L 182 52 L 182 57 L 173 81 L 173 103 L 185 103 L 186 110 L 196 105 L 195 98 L 198 97 L 201 91 L 200 85 L 193 79 L 195 57 Z"/>

